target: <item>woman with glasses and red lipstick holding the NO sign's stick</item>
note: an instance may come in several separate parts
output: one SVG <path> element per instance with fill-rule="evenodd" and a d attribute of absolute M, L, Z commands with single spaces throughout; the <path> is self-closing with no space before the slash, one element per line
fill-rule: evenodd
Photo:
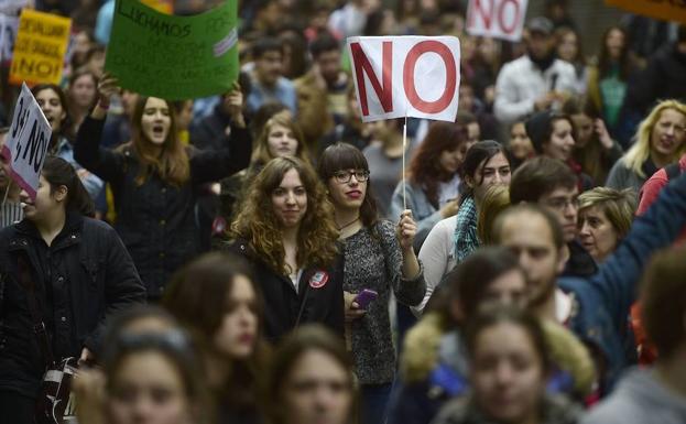
<path fill-rule="evenodd" d="M 383 423 L 395 374 L 389 298 L 392 292 L 402 304 L 415 306 L 425 291 L 412 247 L 417 227 L 409 210 L 398 225 L 378 218 L 369 165 L 357 148 L 328 146 L 319 157 L 318 173 L 344 241 L 346 336 L 360 380 L 361 423 Z M 366 291 L 378 297 L 368 302 Z"/>

